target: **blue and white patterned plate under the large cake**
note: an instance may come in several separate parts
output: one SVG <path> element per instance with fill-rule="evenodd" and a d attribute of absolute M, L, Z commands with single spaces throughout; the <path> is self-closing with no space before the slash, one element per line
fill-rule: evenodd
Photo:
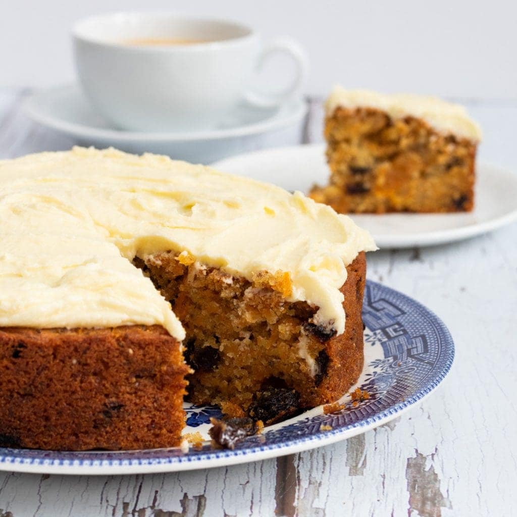
<path fill-rule="evenodd" d="M 417 301 L 376 282 L 364 295 L 364 368 L 354 390 L 370 398 L 325 415 L 315 407 L 250 436 L 235 450 L 203 448 L 153 449 L 127 452 L 56 452 L 0 448 L 0 470 L 53 474 L 136 474 L 172 472 L 265 460 L 338 442 L 398 417 L 428 396 L 449 371 L 454 344 L 445 325 Z M 205 438 L 216 407 L 186 405 L 186 433 Z"/>

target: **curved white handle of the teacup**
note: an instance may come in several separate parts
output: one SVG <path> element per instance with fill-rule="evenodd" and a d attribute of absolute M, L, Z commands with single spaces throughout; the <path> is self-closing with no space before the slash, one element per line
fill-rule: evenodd
<path fill-rule="evenodd" d="M 255 69 L 260 72 L 266 60 L 276 52 L 284 52 L 292 57 L 296 64 L 295 77 L 292 83 L 282 92 L 277 94 L 262 94 L 258 92 L 246 92 L 244 97 L 250 103 L 263 108 L 276 107 L 288 99 L 301 95 L 302 88 L 307 79 L 309 58 L 301 45 L 292 38 L 281 37 L 269 43 L 258 56 Z"/>

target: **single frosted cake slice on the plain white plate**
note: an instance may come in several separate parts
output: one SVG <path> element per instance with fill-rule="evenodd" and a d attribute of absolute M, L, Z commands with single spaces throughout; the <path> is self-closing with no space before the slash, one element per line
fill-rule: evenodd
<path fill-rule="evenodd" d="M 473 209 L 481 133 L 462 106 L 336 87 L 325 109 L 331 173 L 314 200 L 341 213 Z"/>

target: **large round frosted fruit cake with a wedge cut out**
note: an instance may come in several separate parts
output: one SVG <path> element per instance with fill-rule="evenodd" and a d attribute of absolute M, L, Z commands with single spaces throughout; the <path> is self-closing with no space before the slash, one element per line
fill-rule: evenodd
<path fill-rule="evenodd" d="M 361 371 L 374 242 L 300 192 L 74 147 L 0 161 L 0 220 L 0 447 L 176 446 L 185 394 L 268 424 Z"/>

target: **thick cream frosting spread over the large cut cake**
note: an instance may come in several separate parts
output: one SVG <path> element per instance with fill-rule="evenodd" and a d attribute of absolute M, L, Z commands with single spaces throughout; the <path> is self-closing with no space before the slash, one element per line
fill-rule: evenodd
<path fill-rule="evenodd" d="M 289 272 L 290 301 L 345 325 L 346 265 L 375 250 L 347 216 L 260 181 L 168 157 L 74 147 L 0 161 L 0 327 L 162 325 L 170 304 L 135 256 L 187 251 L 249 280 Z"/>

